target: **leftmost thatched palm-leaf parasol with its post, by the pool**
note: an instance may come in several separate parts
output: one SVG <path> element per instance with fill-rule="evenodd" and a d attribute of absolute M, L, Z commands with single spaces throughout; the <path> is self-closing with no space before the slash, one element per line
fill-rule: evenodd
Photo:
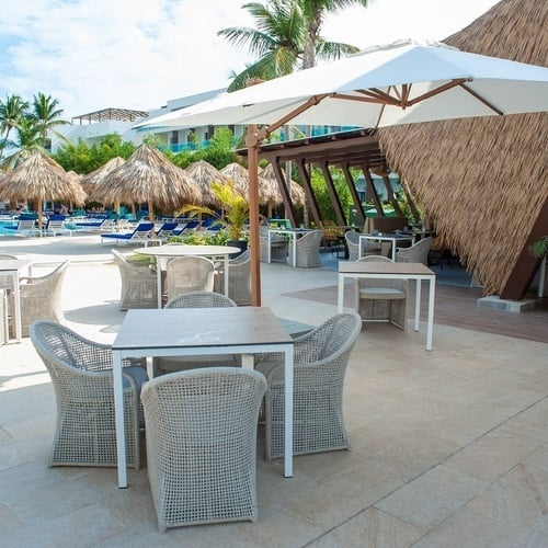
<path fill-rule="evenodd" d="M 0 196 L 35 201 L 39 227 L 44 201 L 62 199 L 76 205 L 85 201 L 79 176 L 67 173 L 53 158 L 42 152 L 32 153 L 18 168 L 5 173 L 0 183 Z"/>

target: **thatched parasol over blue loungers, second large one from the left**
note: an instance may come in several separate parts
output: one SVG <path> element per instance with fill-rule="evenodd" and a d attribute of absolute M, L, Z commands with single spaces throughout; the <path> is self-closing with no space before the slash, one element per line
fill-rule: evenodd
<path fill-rule="evenodd" d="M 150 220 L 155 205 L 173 212 L 183 204 L 202 203 L 199 189 L 186 172 L 147 144 L 104 178 L 101 193 L 107 202 L 147 203 Z"/>

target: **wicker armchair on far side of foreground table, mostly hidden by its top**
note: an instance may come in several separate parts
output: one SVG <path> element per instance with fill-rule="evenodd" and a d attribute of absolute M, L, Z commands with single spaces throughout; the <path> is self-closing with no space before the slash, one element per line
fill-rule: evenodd
<path fill-rule="evenodd" d="M 189 292 L 172 298 L 165 308 L 224 308 L 238 306 L 231 298 L 214 292 Z M 184 330 L 184 326 L 181 327 Z M 152 359 L 155 377 L 196 367 L 240 367 L 241 357 L 235 354 L 216 354 L 212 356 L 170 356 Z"/>

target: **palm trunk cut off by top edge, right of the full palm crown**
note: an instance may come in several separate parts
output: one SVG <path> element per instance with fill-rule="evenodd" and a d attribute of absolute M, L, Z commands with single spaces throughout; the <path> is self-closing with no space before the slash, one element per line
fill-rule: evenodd
<path fill-rule="evenodd" d="M 328 13 L 334 13 L 352 5 L 367 7 L 367 0 L 295 0 L 302 10 L 307 36 L 302 55 L 302 68 L 316 66 L 316 59 L 324 48 L 320 36 L 321 25 Z"/>

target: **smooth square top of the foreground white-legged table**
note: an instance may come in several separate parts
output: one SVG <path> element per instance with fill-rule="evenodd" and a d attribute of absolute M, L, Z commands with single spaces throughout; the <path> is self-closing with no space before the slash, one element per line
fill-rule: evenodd
<path fill-rule="evenodd" d="M 113 350 L 293 343 L 267 307 L 133 309 Z"/>

